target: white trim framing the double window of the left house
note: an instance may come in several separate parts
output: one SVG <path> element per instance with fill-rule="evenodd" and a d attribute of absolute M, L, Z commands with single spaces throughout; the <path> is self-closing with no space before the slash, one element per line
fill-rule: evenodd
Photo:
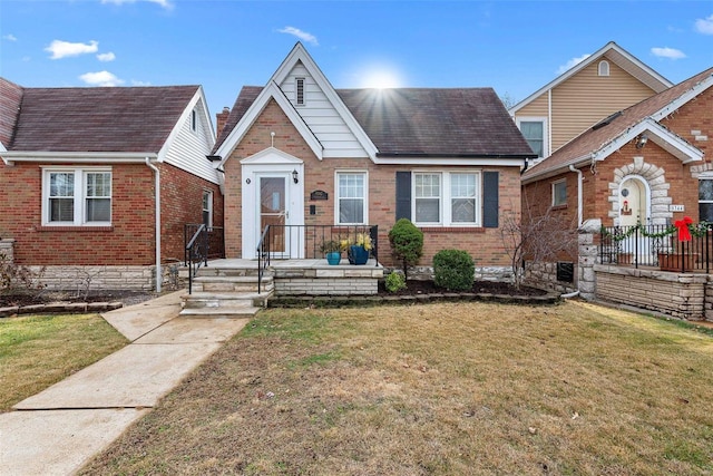
<path fill-rule="evenodd" d="M 111 167 L 61 167 L 50 166 L 42 168 L 42 226 L 111 226 L 111 215 L 114 208 L 114 184 L 111 185 L 111 195 L 109 196 L 109 221 L 108 222 L 86 222 L 85 221 L 85 207 L 86 207 L 86 193 L 87 193 L 87 173 L 108 172 L 111 174 L 114 181 L 114 174 Z M 50 187 L 50 174 L 67 172 L 75 174 L 75 220 L 71 222 L 50 222 L 49 221 L 49 187 Z M 77 193 L 79 191 L 80 193 Z"/>

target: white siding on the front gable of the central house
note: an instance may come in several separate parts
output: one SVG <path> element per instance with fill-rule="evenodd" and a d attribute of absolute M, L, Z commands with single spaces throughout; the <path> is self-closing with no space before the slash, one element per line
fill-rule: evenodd
<path fill-rule="evenodd" d="M 304 106 L 296 106 L 296 78 L 304 78 Z M 280 88 L 284 91 L 285 97 L 295 105 L 296 111 L 324 146 L 324 157 L 368 156 L 367 150 L 361 146 L 344 119 L 332 106 L 332 103 L 310 76 L 302 62 L 295 65 L 290 75 L 282 81 Z"/>

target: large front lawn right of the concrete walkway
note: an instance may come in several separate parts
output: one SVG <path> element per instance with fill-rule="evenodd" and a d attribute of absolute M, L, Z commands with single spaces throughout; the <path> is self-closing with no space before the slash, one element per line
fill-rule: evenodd
<path fill-rule="evenodd" d="M 713 337 L 582 302 L 267 310 L 86 468 L 711 474 Z"/>

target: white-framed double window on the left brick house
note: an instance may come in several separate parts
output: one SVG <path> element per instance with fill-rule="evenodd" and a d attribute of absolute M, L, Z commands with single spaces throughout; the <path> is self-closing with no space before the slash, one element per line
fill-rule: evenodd
<path fill-rule="evenodd" d="M 42 224 L 106 226 L 111 224 L 110 168 L 45 168 Z"/>

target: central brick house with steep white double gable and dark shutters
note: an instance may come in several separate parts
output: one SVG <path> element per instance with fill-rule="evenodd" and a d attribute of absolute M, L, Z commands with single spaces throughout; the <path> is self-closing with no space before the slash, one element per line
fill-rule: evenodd
<path fill-rule="evenodd" d="M 301 43 L 218 115 L 213 154 L 225 171 L 227 258 L 256 256 L 270 192 L 286 224 L 379 225 L 387 265 L 387 234 L 408 217 L 424 233 L 421 265 L 460 249 L 496 269 L 509 265 L 501 227 L 519 216 L 520 171 L 534 157 L 491 88 L 334 89 Z"/>

